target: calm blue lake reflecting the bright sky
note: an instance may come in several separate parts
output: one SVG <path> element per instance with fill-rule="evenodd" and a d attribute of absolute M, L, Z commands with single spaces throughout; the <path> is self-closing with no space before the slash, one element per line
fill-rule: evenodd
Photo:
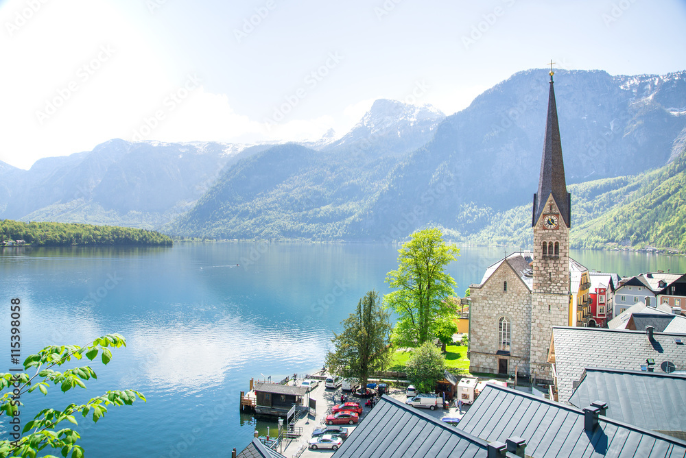
<path fill-rule="evenodd" d="M 22 361 L 51 344 L 84 345 L 119 333 L 128 346 L 97 381 L 62 394 L 23 396 L 21 419 L 86 402 L 107 389 L 137 389 L 147 402 L 110 407 L 93 425 L 79 417 L 91 457 L 230 456 L 257 428 L 239 414 L 250 377 L 279 381 L 322 367 L 331 331 L 364 294 L 388 292 L 397 249 L 381 244 L 197 243 L 174 248 L 40 248 L 0 252 L 0 355 L 10 362 L 12 298 L 21 300 Z M 456 293 L 479 282 L 504 248 L 462 248 L 449 266 Z M 572 252 L 589 269 L 634 275 L 686 272 L 686 258 Z M 85 365 L 85 363 L 83 364 Z M 70 366 L 71 367 L 71 366 Z M 66 368 L 66 367 L 65 367 Z M 5 417 L 3 417 L 5 418 Z M 64 426 L 67 427 L 67 426 Z M 273 431 L 273 430 L 272 430 Z M 8 427 L 0 423 L 0 436 Z M 45 450 L 46 452 L 48 450 Z"/>

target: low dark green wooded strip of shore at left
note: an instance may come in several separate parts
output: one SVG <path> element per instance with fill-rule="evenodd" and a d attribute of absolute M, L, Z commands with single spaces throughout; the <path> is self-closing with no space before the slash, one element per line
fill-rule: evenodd
<path fill-rule="evenodd" d="M 32 246 L 136 245 L 171 246 L 165 234 L 146 229 L 90 224 L 23 223 L 0 219 L 0 244 L 23 240 Z"/>

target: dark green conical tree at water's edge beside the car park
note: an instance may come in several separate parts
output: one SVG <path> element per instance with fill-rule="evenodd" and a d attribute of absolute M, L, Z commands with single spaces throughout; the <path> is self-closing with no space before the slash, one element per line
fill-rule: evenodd
<path fill-rule="evenodd" d="M 384 370 L 390 363 L 390 313 L 383 309 L 376 291 L 369 291 L 357 302 L 357 310 L 333 333 L 335 351 L 327 354 L 327 365 L 334 374 L 357 378 L 366 386 L 369 375 Z"/>

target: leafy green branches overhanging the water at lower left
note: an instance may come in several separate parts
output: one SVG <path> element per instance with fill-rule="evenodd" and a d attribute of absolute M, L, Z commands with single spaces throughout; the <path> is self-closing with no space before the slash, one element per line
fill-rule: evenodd
<path fill-rule="evenodd" d="M 70 404 L 63 410 L 43 409 L 33 420 L 26 422 L 21 433 L 15 432 L 13 425 L 18 424 L 19 402 L 21 396 L 32 393 L 38 389 L 47 395 L 50 384 L 59 386 L 62 392 L 66 393 L 72 388 L 86 388 L 84 381 L 97 378 L 95 371 L 88 365 L 73 367 L 72 369 L 58 372 L 54 367 L 61 366 L 71 361 L 80 360 L 86 357 L 93 361 L 98 354 L 103 364 L 107 364 L 112 359 L 110 348 L 126 346 L 126 340 L 119 334 L 108 334 L 104 337 L 95 339 L 87 346 L 80 347 L 75 345 L 68 346 L 48 346 L 40 350 L 38 354 L 32 354 L 24 361 L 24 371 L 16 374 L 0 374 L 0 421 L 10 426 L 12 441 L 0 441 L 0 458 L 4 457 L 36 457 L 36 454 L 45 448 L 59 450 L 62 457 L 67 457 L 71 453 L 71 458 L 84 456 L 84 450 L 76 442 L 81 438 L 80 434 L 71 428 L 58 429 L 58 425 L 65 420 L 78 424 L 75 415 L 80 413 L 86 417 L 89 413 L 93 415 L 93 422 L 107 412 L 110 405 L 132 405 L 138 397 L 145 401 L 145 396 L 132 389 L 124 391 L 111 390 L 102 396 L 92 398 L 86 404 Z M 27 370 L 35 367 L 33 375 L 27 374 Z M 5 392 L 6 390 L 6 392 Z M 2 420 L 5 415 L 11 420 Z M 55 455 L 41 455 L 44 458 L 56 458 Z"/>

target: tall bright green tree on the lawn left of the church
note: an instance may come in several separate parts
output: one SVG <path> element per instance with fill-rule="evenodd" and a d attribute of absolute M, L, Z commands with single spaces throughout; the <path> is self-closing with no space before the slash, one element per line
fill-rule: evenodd
<path fill-rule="evenodd" d="M 398 269 L 386 276 L 396 290 L 384 298 L 399 315 L 393 340 L 400 346 L 420 346 L 453 322 L 456 306 L 449 297 L 454 296 L 456 283 L 445 267 L 460 250 L 443 241 L 440 229 L 432 228 L 414 232 L 398 252 Z"/>

